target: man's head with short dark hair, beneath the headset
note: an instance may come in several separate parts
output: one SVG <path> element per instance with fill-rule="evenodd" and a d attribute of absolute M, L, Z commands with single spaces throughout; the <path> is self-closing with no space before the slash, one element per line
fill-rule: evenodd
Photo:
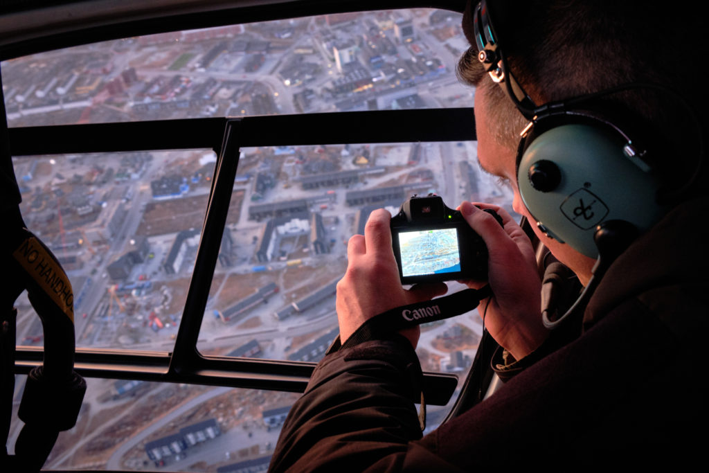
<path fill-rule="evenodd" d="M 471 2 L 464 14 L 463 28 L 473 46 L 460 60 L 458 74 L 477 87 L 479 158 L 485 169 L 512 182 L 515 210 L 529 215 L 515 185 L 516 149 L 526 120 L 477 59 L 472 22 L 476 4 Z M 491 7 L 496 13 L 495 33 L 508 72 L 537 106 L 628 83 L 659 84 L 674 91 L 637 87 L 584 106 L 642 133 L 652 150 L 648 159 L 653 172 L 662 176 L 666 189 L 682 189 L 672 199 L 705 194 L 700 179 L 692 182 L 700 164 L 699 125 L 676 95 L 703 95 L 700 75 L 693 70 L 702 47 L 699 26 L 690 24 L 696 25 L 696 15 L 668 10 L 666 3 L 657 1 L 490 0 L 488 4 L 495 7 Z M 685 189 L 688 183 L 692 189 Z M 554 242 L 543 237 L 542 241 L 555 255 L 570 253 L 568 247 L 554 251 Z"/>

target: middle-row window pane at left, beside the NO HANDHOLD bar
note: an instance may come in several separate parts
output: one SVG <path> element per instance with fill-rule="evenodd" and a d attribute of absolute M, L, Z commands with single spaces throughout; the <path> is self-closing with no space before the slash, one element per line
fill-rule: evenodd
<path fill-rule="evenodd" d="M 174 345 L 215 162 L 212 150 L 16 158 L 24 221 L 72 282 L 77 347 Z M 42 345 L 26 294 L 16 305 L 18 343 Z"/>

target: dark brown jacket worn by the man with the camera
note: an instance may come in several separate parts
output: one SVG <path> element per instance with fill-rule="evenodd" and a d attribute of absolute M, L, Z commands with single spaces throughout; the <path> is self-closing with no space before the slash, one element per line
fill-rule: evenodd
<path fill-rule="evenodd" d="M 408 343 L 372 340 L 326 356 L 289 413 L 272 471 L 638 471 L 702 461 L 709 231 L 696 216 L 708 203 L 676 209 L 619 257 L 579 338 L 424 438 Z"/>

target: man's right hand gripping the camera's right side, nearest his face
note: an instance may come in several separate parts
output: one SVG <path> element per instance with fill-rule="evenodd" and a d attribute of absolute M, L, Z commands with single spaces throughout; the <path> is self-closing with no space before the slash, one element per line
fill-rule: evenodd
<path fill-rule="evenodd" d="M 481 208 L 492 208 L 501 216 L 504 227 Z M 478 306 L 485 313 L 485 326 L 493 338 L 515 359 L 521 360 L 546 340 L 542 324 L 541 287 L 534 248 L 524 230 L 505 209 L 489 204 L 463 202 L 459 206 L 465 220 L 488 247 L 488 283 L 493 297 Z M 479 289 L 486 282 L 465 281 Z M 487 308 L 487 311 L 485 309 Z"/>

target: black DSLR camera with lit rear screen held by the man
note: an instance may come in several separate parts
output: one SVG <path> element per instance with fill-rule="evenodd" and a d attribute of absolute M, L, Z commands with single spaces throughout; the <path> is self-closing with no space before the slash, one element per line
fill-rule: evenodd
<path fill-rule="evenodd" d="M 502 225 L 495 211 L 486 211 Z M 390 227 L 401 284 L 487 279 L 485 242 L 440 196 L 414 194 L 401 204 Z"/>

